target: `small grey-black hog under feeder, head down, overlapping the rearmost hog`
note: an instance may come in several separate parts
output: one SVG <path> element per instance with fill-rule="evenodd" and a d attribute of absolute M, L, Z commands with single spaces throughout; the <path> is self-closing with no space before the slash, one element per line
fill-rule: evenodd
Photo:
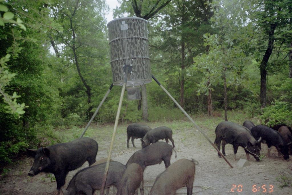
<path fill-rule="evenodd" d="M 168 143 L 168 139 L 171 141 L 172 146 L 174 148 L 174 141 L 172 139 L 172 130 L 166 126 L 160 126 L 155 129 L 152 129 L 149 131 L 143 139 L 141 139 L 142 142 L 142 148 L 145 148 L 146 146 L 149 146 L 150 143 L 158 142 L 160 139 L 165 139 L 166 143 Z"/>

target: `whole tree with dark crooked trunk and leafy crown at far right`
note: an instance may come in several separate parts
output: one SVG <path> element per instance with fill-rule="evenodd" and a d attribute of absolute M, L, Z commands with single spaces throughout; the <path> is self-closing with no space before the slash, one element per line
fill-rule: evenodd
<path fill-rule="evenodd" d="M 258 0 L 255 1 L 255 6 L 251 9 L 251 15 L 253 21 L 258 25 L 261 32 L 260 39 L 265 40 L 265 52 L 260 60 L 260 103 L 261 107 L 266 106 L 267 98 L 267 69 L 269 67 L 269 59 L 275 49 L 275 42 L 285 42 L 291 44 L 291 36 L 285 33 L 283 35 L 283 29 L 291 30 L 291 18 L 292 18 L 292 3 L 288 0 Z M 286 31 L 287 32 L 287 31 Z M 290 33 L 291 34 L 291 33 Z M 284 39 L 283 39 L 284 38 Z M 289 47 L 289 45 L 288 45 Z"/>

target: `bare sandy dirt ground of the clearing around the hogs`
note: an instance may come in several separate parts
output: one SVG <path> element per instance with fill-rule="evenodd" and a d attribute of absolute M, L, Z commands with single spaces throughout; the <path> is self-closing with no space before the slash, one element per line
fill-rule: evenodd
<path fill-rule="evenodd" d="M 238 168 L 238 160 L 240 158 L 246 159 L 244 149 L 239 147 L 237 161 L 234 161 L 232 145 L 227 144 L 225 147 L 226 158 L 234 167 L 231 168 L 223 158 L 218 158 L 217 151 L 195 127 L 186 128 L 183 131 L 177 129 L 174 132 L 173 139 L 177 158 L 175 158 L 175 154 L 173 153 L 171 163 L 180 158 L 193 158 L 199 162 L 199 165 L 196 166 L 193 194 L 292 194 L 292 187 L 284 187 L 281 189 L 279 186 L 283 182 L 279 182 L 276 179 L 277 177 L 290 177 L 291 182 L 292 156 L 290 156 L 290 160 L 279 158 L 276 148 L 272 147 L 270 158 L 265 157 L 263 161 L 256 162 L 253 156 L 250 155 L 251 161 L 249 163 L 251 165 Z M 214 130 L 206 130 L 205 133 L 211 141 L 214 141 Z M 99 143 L 96 160 L 107 157 L 110 143 L 105 140 L 99 140 L 98 135 L 94 139 Z M 106 140 L 111 140 L 111 137 Z M 115 139 L 112 159 L 126 164 L 130 156 L 135 151 L 141 149 L 140 140 L 135 140 L 135 145 L 136 148 L 133 148 L 130 141 L 130 148 L 126 148 L 126 131 L 124 134 L 120 134 Z M 262 144 L 261 154 L 266 153 L 267 145 Z M 25 157 L 19 164 L 6 167 L 6 169 L 11 170 L 0 177 L 0 194 L 53 194 L 56 189 L 56 182 L 51 182 L 51 177 L 48 174 L 40 173 L 34 177 L 27 176 L 32 164 L 33 159 Z M 78 170 L 87 166 L 88 163 L 86 162 L 81 168 L 69 172 L 63 188 L 67 187 L 70 179 Z M 145 169 L 145 194 L 148 194 L 156 176 L 164 170 L 165 166 L 163 162 L 160 165 L 148 166 Z M 186 192 L 186 187 L 177 190 L 177 194 L 187 194 Z M 95 194 L 99 194 L 99 192 L 96 191 Z M 113 194 L 112 189 L 110 194 Z"/>

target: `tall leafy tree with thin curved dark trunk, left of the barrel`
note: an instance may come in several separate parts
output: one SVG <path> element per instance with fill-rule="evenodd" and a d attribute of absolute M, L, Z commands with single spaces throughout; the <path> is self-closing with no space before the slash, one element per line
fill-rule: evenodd
<path fill-rule="evenodd" d="M 92 86 L 96 66 L 106 55 L 105 18 L 108 7 L 105 1 L 62 1 L 51 7 L 52 18 L 62 25 L 63 32 L 49 31 L 56 56 L 73 62 L 87 95 L 87 118 L 93 114 Z M 92 71 L 95 70 L 95 71 Z"/>

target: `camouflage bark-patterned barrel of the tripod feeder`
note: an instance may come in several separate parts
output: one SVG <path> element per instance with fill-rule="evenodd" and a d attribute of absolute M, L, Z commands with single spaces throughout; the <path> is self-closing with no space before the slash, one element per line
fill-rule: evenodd
<path fill-rule="evenodd" d="M 125 67 L 129 67 L 127 87 L 150 83 L 147 21 L 136 17 L 117 18 L 107 27 L 113 84 L 123 85 Z"/>

